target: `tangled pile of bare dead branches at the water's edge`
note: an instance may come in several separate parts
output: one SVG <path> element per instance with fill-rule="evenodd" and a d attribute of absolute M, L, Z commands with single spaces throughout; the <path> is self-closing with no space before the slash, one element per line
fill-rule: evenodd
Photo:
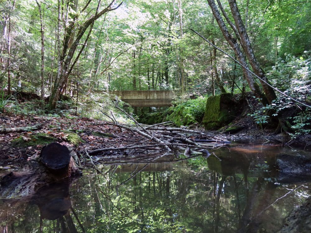
<path fill-rule="evenodd" d="M 111 120 L 111 122 L 106 122 L 105 125 L 116 126 L 120 129 L 120 133 L 117 134 L 118 142 L 115 142 L 116 139 L 112 139 L 110 142 L 107 141 L 107 144 L 110 144 L 110 146 L 94 148 L 86 153 L 89 158 L 99 154 L 105 155 L 104 157 L 100 158 L 99 156 L 96 158 L 103 164 L 106 162 L 123 163 L 129 161 L 134 163 L 154 162 L 168 153 L 173 160 L 173 154 L 175 153 L 177 153 L 177 156 L 178 153 L 183 154 L 187 158 L 193 155 L 197 156 L 197 154 L 209 157 L 211 155 L 208 151 L 209 149 L 219 148 L 228 144 L 224 136 L 174 127 L 173 122 L 170 121 L 151 126 L 143 125 L 138 123 L 118 105 L 116 105 L 116 108 L 127 115 L 134 122 L 134 125 L 119 123 L 112 112 L 110 112 L 111 115 L 109 116 L 102 111 Z M 200 144 L 196 140 L 198 142 L 202 140 L 204 144 Z M 120 144 L 120 146 L 116 144 Z M 153 154 L 149 154 L 150 152 Z M 214 155 L 214 153 L 212 154 Z M 216 155 L 215 157 L 217 158 Z M 96 167 L 94 163 L 92 163 L 92 166 Z M 98 169 L 96 168 L 96 170 Z"/>

